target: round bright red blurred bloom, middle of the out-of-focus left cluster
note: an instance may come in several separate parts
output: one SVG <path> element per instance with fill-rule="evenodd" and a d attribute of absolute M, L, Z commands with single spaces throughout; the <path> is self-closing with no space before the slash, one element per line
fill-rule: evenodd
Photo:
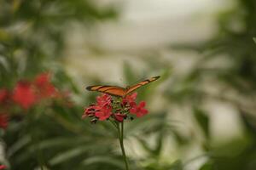
<path fill-rule="evenodd" d="M 18 82 L 14 94 L 14 101 L 24 109 L 30 108 L 36 103 L 36 94 L 30 82 Z"/>

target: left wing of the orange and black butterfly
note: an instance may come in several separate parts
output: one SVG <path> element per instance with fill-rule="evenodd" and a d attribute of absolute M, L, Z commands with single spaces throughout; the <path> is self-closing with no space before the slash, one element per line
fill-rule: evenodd
<path fill-rule="evenodd" d="M 123 97 L 125 95 L 125 88 L 120 88 L 118 86 L 88 86 L 86 89 L 119 97 Z"/>

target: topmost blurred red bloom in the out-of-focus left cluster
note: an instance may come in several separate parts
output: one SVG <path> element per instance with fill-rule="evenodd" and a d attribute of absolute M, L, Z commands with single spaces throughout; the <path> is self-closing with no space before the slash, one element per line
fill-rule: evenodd
<path fill-rule="evenodd" d="M 35 86 L 38 88 L 39 97 L 47 98 L 56 94 L 55 86 L 49 82 L 49 73 L 43 73 L 38 75 L 35 79 Z"/>

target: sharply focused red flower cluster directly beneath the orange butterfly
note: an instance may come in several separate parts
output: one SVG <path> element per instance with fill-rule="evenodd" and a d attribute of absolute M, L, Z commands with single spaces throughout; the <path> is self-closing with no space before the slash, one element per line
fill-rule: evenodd
<path fill-rule="evenodd" d="M 93 117 L 91 122 L 104 121 L 112 118 L 115 121 L 123 122 L 129 115 L 135 114 L 137 117 L 144 116 L 148 111 L 144 108 L 145 102 L 141 102 L 139 105 L 136 104 L 137 94 L 127 95 L 124 99 L 114 100 L 112 96 L 108 94 L 102 94 L 96 97 L 96 104 L 90 105 L 84 109 L 82 118 L 87 116 Z"/>

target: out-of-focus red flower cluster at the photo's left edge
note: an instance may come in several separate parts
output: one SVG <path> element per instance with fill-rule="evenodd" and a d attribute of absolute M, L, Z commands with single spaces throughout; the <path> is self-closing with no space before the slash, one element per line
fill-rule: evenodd
<path fill-rule="evenodd" d="M 17 82 L 12 91 L 0 88 L 0 127 L 7 127 L 8 113 L 11 112 L 13 104 L 28 110 L 43 99 L 53 98 L 64 99 L 67 95 L 60 93 L 50 82 L 49 73 L 39 74 L 31 82 L 24 80 Z"/>

